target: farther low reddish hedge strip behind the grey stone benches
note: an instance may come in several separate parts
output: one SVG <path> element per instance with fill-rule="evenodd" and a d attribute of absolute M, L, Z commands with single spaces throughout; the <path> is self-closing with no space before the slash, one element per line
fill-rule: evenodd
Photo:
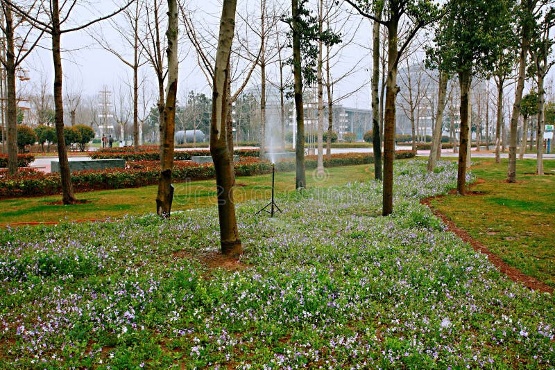
<path fill-rule="evenodd" d="M 157 150 L 138 150 L 134 152 L 131 148 L 117 148 L 119 150 L 106 152 L 105 150 L 93 152 L 90 157 L 92 159 L 112 159 L 121 158 L 126 161 L 160 161 L 160 152 Z M 127 149 L 127 150 L 122 150 Z M 131 151 L 130 151 L 131 150 Z M 258 149 L 239 149 L 234 150 L 235 155 L 239 157 L 258 157 Z M 191 157 L 195 155 L 210 155 L 210 150 L 178 150 L 174 152 L 173 159 L 175 161 L 190 161 Z"/>

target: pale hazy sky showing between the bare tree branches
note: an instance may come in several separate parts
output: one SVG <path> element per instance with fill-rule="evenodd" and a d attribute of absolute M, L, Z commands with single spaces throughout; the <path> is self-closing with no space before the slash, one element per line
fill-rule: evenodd
<path fill-rule="evenodd" d="M 253 17 L 249 14 L 250 11 L 247 9 L 252 9 L 255 4 L 259 2 L 250 0 L 242 1 L 239 4 L 238 11 L 244 17 Z M 207 0 L 199 1 L 193 0 L 189 2 L 189 8 L 196 8 L 196 19 L 197 25 L 199 27 L 204 27 L 205 29 L 211 28 L 212 32 L 217 32 L 216 22 L 219 20 L 219 12 L 221 5 L 218 1 Z M 249 8 L 250 7 L 250 8 Z M 114 6 L 112 1 L 100 1 L 94 4 L 94 11 L 90 9 L 79 8 L 76 10 L 75 17 L 73 19 L 92 19 L 94 17 L 93 13 L 107 14 L 108 12 L 114 10 L 117 6 Z M 256 9 L 256 8 L 255 8 Z M 285 8 L 287 10 L 287 6 Z M 342 13 L 343 14 L 343 13 Z M 345 13 L 346 14 L 346 13 Z M 345 21 L 346 15 L 341 15 L 342 21 Z M 121 21 L 121 20 L 120 20 Z M 244 22 L 241 26 L 240 17 L 237 18 L 237 25 L 245 29 Z M 74 22 L 78 23 L 78 22 Z M 212 24 L 212 26 L 211 26 Z M 359 25 L 360 24 L 360 25 Z M 369 71 L 368 64 L 370 64 L 370 58 L 366 57 L 366 60 L 361 62 L 361 58 L 364 58 L 368 54 L 368 49 L 364 47 L 370 41 L 370 24 L 367 20 L 361 20 L 358 16 L 353 16 L 347 19 L 345 22 L 345 28 L 343 32 L 343 39 L 350 38 L 348 32 L 352 32 L 352 29 L 357 28 L 357 37 L 355 37 L 355 44 L 345 47 L 341 55 L 336 58 L 337 63 L 332 69 L 336 76 L 341 76 L 345 71 L 352 69 L 355 64 L 358 64 L 357 72 L 352 73 L 349 78 L 341 80 L 341 83 L 337 84 L 334 88 L 334 96 L 341 96 L 347 94 L 351 89 L 356 89 L 368 81 Z M 101 24 L 97 24 L 94 28 L 89 28 L 88 32 L 92 32 L 93 29 L 101 29 L 102 33 L 108 39 L 112 38 L 112 42 L 116 49 L 123 48 L 117 45 L 117 33 L 112 29 L 108 21 L 103 21 Z M 351 28 L 351 31 L 349 31 Z M 163 31 L 165 32 L 165 25 L 163 26 Z M 245 31 L 243 31 L 245 32 Z M 180 35 L 185 37 L 185 31 L 180 24 Z M 284 39 L 284 35 L 281 35 Z M 253 36 L 250 35 L 250 39 Z M 45 46 L 48 46 L 49 39 L 45 39 Z M 363 46 L 361 46 L 363 45 Z M 117 90 L 129 83 L 132 77 L 132 70 L 124 65 L 117 57 L 101 49 L 101 47 L 94 42 L 92 37 L 89 37 L 88 33 L 84 30 L 76 31 L 75 33 L 65 33 L 62 35 L 62 48 L 67 50 L 63 53 L 63 69 L 65 74 L 65 88 L 69 89 L 79 89 L 82 87 L 83 94 L 94 96 L 101 91 L 103 86 L 108 87 L 108 90 L 112 91 L 112 94 L 117 94 Z M 130 53 L 128 49 L 128 53 Z M 184 39 L 182 42 L 182 53 L 180 55 L 182 62 L 180 63 L 179 71 L 179 93 L 181 96 L 189 90 L 203 91 L 205 94 L 210 94 L 210 90 L 207 85 L 207 80 L 204 74 L 198 68 L 196 62 L 196 53 L 189 50 L 189 42 Z M 366 65 L 365 65 L 366 64 Z M 30 71 L 31 80 L 24 82 L 27 91 L 33 91 L 37 86 L 40 85 L 41 78 L 46 80 L 49 85 L 53 80 L 52 73 L 52 60 L 51 53 L 46 49 L 38 49 L 33 55 L 27 60 L 27 68 Z M 287 67 L 289 69 L 289 67 Z M 276 78 L 277 72 L 275 66 L 271 68 L 270 73 L 268 73 L 268 78 Z M 155 101 L 155 80 L 153 80 L 153 72 L 150 65 L 146 64 L 142 67 L 140 74 L 144 76 L 150 76 L 150 85 L 152 91 L 152 103 Z M 252 86 L 259 82 L 258 69 L 253 73 L 253 77 L 250 79 L 249 85 Z M 357 94 L 350 96 L 345 99 L 342 103 L 351 107 L 361 107 L 367 108 L 369 106 L 369 94 L 370 89 L 365 86 L 360 89 Z"/>

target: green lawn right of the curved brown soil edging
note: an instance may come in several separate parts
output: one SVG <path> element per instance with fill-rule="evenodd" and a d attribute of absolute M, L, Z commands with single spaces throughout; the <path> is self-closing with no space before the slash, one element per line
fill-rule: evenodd
<path fill-rule="evenodd" d="M 472 173 L 484 180 L 470 188 L 477 195 L 448 195 L 432 202 L 468 234 L 506 263 L 555 287 L 555 161 L 517 162 L 517 182 L 506 182 L 507 160 L 472 159 Z"/>

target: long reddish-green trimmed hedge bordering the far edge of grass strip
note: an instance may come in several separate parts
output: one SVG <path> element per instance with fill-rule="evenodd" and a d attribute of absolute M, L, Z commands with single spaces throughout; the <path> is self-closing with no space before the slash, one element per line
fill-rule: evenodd
<path fill-rule="evenodd" d="M 416 152 L 400 150 L 395 152 L 395 159 L 413 158 Z M 324 166 L 349 166 L 356 164 L 372 164 L 372 153 L 344 153 L 332 155 L 332 159 L 324 159 Z M 295 161 L 284 159 L 276 163 L 278 171 L 295 169 Z M 313 169 L 317 166 L 316 156 L 305 158 L 305 167 Z M 235 175 L 251 176 L 271 172 L 269 161 L 259 161 L 257 158 L 244 158 L 234 165 Z M 106 170 L 86 170 L 71 174 L 74 191 L 85 192 L 95 190 L 110 190 L 118 188 L 133 188 L 138 186 L 155 185 L 160 177 L 160 162 L 132 161 L 126 168 L 110 168 Z M 176 161 L 173 164 L 172 181 L 185 182 L 215 177 L 212 164 L 196 164 L 191 161 Z M 61 191 L 59 173 L 42 173 L 24 168 L 16 176 L 10 176 L 8 170 L 0 170 L 0 198 L 32 197 L 58 194 Z"/>

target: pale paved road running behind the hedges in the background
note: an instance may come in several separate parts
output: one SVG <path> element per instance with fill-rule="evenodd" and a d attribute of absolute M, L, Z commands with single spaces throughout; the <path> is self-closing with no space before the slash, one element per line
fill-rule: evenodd
<path fill-rule="evenodd" d="M 403 149 L 407 149 L 407 148 L 409 148 L 409 147 L 407 147 L 407 146 L 398 146 L 398 147 L 396 147 L 397 150 L 403 150 Z M 206 149 L 206 148 L 201 148 L 201 149 Z M 315 150 L 315 152 L 318 152 L 318 150 Z M 344 148 L 344 149 L 333 148 L 332 149 L 332 154 L 333 153 L 371 153 L 371 152 L 373 152 L 372 148 Z M 441 155 L 442 155 L 442 157 L 459 157 L 459 154 L 454 153 L 452 149 L 443 149 L 443 150 L 441 150 Z M 418 157 L 428 157 L 428 156 L 429 156 L 429 150 L 418 150 Z M 476 152 L 475 148 L 473 148 L 472 149 L 472 157 L 494 158 L 495 153 L 486 152 L 486 151 Z M 507 158 L 507 157 L 509 157 L 509 154 L 508 153 L 502 153 L 501 157 L 502 158 Z M 535 154 L 525 154 L 524 158 L 536 159 L 536 155 Z M 33 163 L 31 163 L 31 167 L 38 168 L 39 170 L 42 170 L 42 171 L 48 173 L 48 172 L 50 172 L 50 162 L 52 160 L 56 160 L 56 159 L 57 159 L 57 157 L 36 157 L 35 161 L 33 161 Z M 90 158 L 87 157 L 86 155 L 83 155 L 83 156 L 71 156 L 68 159 L 69 159 L 69 161 L 78 161 L 78 160 L 90 159 Z M 555 154 L 544 154 L 543 159 L 555 159 Z"/>

